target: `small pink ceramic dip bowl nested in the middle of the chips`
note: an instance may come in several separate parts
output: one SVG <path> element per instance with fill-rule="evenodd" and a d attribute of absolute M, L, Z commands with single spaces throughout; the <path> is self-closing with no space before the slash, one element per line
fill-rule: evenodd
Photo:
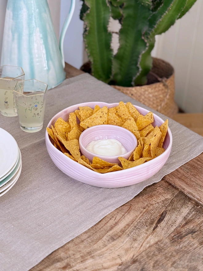
<path fill-rule="evenodd" d="M 98 155 L 92 152 L 89 152 L 86 149 L 86 146 L 93 140 L 101 140 L 101 139 L 116 139 L 121 144 L 127 152 L 122 155 L 118 156 L 102 156 Z M 94 156 L 97 156 L 101 158 L 102 160 L 105 160 L 106 162 L 109 163 L 117 163 L 121 165 L 120 161 L 118 160 L 119 156 L 124 157 L 125 159 L 128 159 L 132 152 L 135 150 L 137 147 L 137 139 L 131 133 L 129 130 L 116 126 L 116 125 L 97 125 L 90 127 L 86 129 L 85 131 L 82 132 L 80 138 L 79 138 L 79 145 L 80 145 L 80 152 L 83 154 L 85 157 L 87 157 L 90 162 L 92 162 L 92 159 Z"/>

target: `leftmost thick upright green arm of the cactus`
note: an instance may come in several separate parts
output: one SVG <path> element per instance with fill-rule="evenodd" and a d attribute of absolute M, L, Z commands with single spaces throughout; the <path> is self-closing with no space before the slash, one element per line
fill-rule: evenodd
<path fill-rule="evenodd" d="M 104 0 L 85 0 L 89 7 L 83 20 L 86 50 L 91 62 L 92 75 L 108 83 L 112 73 L 113 51 L 111 33 L 108 32 L 110 8 Z"/>

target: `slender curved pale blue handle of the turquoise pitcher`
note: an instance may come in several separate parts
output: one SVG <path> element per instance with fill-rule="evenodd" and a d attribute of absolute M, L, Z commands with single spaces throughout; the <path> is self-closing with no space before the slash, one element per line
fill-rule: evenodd
<path fill-rule="evenodd" d="M 64 68 L 65 68 L 65 61 L 64 61 L 64 53 L 63 53 L 63 41 L 65 38 L 66 30 L 70 24 L 71 18 L 73 17 L 74 9 L 75 9 L 75 0 L 71 0 L 69 14 L 66 18 L 66 21 L 64 22 L 64 25 L 61 31 L 60 41 L 59 41 L 59 50 L 61 52 L 62 64 Z"/>

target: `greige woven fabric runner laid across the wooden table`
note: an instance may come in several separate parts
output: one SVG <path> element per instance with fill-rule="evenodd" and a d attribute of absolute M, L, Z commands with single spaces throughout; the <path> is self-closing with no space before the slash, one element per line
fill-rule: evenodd
<path fill-rule="evenodd" d="M 18 117 L 0 115 L 0 127 L 14 136 L 22 153 L 20 178 L 9 192 L 0 197 L 1 271 L 29 270 L 55 249 L 131 200 L 147 185 L 160 181 L 203 152 L 203 137 L 169 119 L 173 134 L 172 152 L 164 167 L 152 178 L 123 188 L 99 188 L 73 180 L 51 161 L 46 150 L 45 131 L 56 113 L 88 101 L 130 101 L 143 106 L 94 77 L 83 74 L 66 79 L 59 87 L 48 91 L 44 127 L 40 132 L 23 132 Z M 164 115 L 155 113 L 166 119 Z"/>

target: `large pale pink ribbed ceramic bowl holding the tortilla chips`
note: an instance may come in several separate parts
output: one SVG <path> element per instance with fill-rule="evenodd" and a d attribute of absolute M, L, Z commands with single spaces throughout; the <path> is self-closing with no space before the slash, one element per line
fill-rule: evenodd
<path fill-rule="evenodd" d="M 95 105 L 99 105 L 100 107 L 114 107 L 117 106 L 118 103 L 103 103 L 103 102 L 90 102 L 90 103 L 80 103 L 76 105 L 72 105 L 70 107 L 65 108 L 56 114 L 49 122 L 48 127 L 51 128 L 51 125 L 54 125 L 56 120 L 61 117 L 64 120 L 69 118 L 69 113 L 74 112 L 78 109 L 79 106 L 89 106 L 94 108 Z M 142 114 L 146 115 L 149 111 L 135 106 L 136 109 Z M 163 119 L 158 117 L 156 114 L 154 115 L 154 122 L 152 125 L 155 127 L 156 125 L 160 126 L 164 123 Z M 60 152 L 57 148 L 54 147 L 52 142 L 50 141 L 49 135 L 46 131 L 46 148 L 47 151 L 54 162 L 54 164 L 66 175 L 71 178 L 78 180 L 82 183 L 99 186 L 99 187 L 122 187 L 128 186 L 132 184 L 140 183 L 154 174 L 156 174 L 165 164 L 167 159 L 169 158 L 172 147 L 172 134 L 170 129 L 168 128 L 163 148 L 165 148 L 165 152 L 163 152 L 160 156 L 141 164 L 134 168 L 128 168 L 121 171 L 109 172 L 109 173 L 98 173 L 93 170 L 84 167 L 81 164 L 78 164 L 74 160 L 70 159 L 62 152 Z"/>

